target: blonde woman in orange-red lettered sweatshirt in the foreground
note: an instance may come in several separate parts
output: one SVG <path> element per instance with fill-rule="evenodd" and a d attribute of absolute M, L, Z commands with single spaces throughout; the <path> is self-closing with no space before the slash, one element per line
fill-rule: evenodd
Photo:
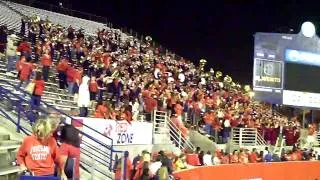
<path fill-rule="evenodd" d="M 24 138 L 17 153 L 22 171 L 35 176 L 53 176 L 55 164 L 61 172 L 61 179 L 67 180 L 63 171 L 64 161 L 56 140 L 52 137 L 56 125 L 50 120 L 38 120 L 32 127 L 32 135 Z"/>

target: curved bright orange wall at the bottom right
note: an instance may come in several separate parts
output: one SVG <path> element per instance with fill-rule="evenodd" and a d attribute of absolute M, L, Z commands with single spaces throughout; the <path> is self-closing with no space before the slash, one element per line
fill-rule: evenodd
<path fill-rule="evenodd" d="M 250 163 L 206 166 L 175 173 L 182 180 L 317 180 L 320 162 Z"/>

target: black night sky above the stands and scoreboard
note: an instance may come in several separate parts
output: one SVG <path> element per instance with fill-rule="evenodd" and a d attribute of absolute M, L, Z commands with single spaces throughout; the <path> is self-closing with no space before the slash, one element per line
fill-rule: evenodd
<path fill-rule="evenodd" d="M 114 24 L 151 35 L 173 52 L 193 62 L 204 58 L 208 67 L 249 84 L 255 32 L 279 32 L 283 27 L 299 32 L 304 21 L 317 25 L 320 17 L 319 5 L 297 0 L 70 2 L 75 10 L 106 16 Z"/>

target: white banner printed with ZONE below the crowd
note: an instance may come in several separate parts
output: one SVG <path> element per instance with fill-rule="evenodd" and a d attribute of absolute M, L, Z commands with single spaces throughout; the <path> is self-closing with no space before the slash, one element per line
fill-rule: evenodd
<path fill-rule="evenodd" d="M 75 119 L 86 126 L 81 127 L 81 123 L 76 122 L 72 122 L 73 125 L 107 145 L 111 145 L 110 139 L 103 137 L 101 134 L 110 137 L 113 140 L 113 145 L 152 144 L 152 123 L 138 121 L 128 123 L 127 121 L 82 117 L 75 117 Z"/>

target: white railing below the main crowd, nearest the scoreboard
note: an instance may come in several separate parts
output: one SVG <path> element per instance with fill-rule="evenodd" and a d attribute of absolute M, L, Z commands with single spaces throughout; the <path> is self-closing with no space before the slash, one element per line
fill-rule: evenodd
<path fill-rule="evenodd" d="M 256 128 L 232 128 L 231 141 L 233 145 L 239 146 L 267 145 Z"/>

